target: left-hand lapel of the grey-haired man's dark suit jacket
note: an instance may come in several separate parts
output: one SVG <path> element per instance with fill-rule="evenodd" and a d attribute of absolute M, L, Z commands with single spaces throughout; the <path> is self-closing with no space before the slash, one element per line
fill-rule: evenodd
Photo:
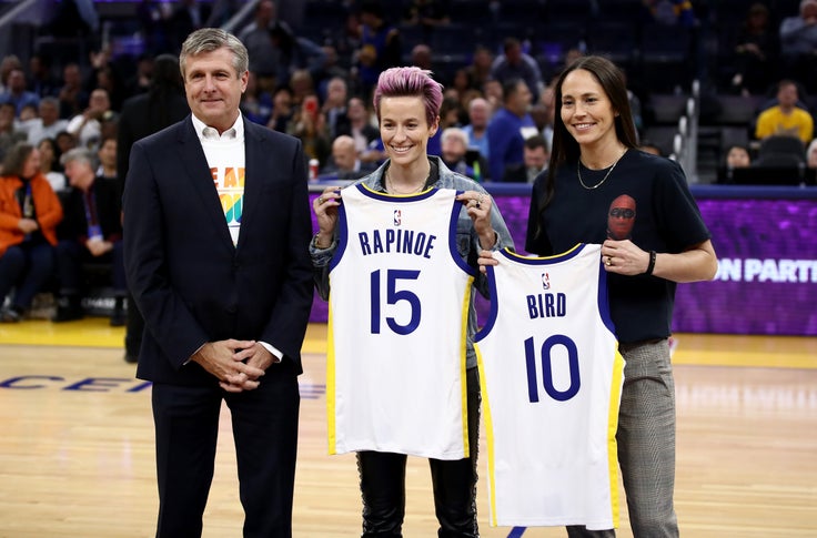
<path fill-rule="evenodd" d="M 224 210 L 219 200 L 219 191 L 215 190 L 213 176 L 208 166 L 204 150 L 201 148 L 199 136 L 193 129 L 193 121 L 188 116 L 186 121 L 180 126 L 179 142 L 181 143 L 181 161 L 184 172 L 190 180 L 193 191 L 199 196 L 200 203 L 203 205 L 210 222 L 215 227 L 215 234 L 219 241 L 225 242 L 230 248 L 234 248 L 233 240 L 230 236 L 230 230 L 224 217 Z"/>

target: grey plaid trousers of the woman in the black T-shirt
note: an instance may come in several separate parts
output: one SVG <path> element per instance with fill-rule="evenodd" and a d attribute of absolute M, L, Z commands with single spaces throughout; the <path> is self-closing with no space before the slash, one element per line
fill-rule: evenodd
<path fill-rule="evenodd" d="M 678 536 L 675 490 L 675 382 L 666 338 L 621 344 L 627 364 L 618 410 L 618 465 L 635 538 Z M 572 538 L 613 538 L 614 530 L 568 527 Z"/>

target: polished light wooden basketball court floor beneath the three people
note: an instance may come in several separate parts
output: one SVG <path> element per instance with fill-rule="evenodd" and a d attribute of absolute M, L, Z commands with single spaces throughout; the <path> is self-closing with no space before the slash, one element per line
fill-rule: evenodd
<path fill-rule="evenodd" d="M 0 325 L 0 537 L 149 537 L 157 490 L 150 386 L 103 318 Z M 686 537 L 817 536 L 817 338 L 677 335 L 676 509 Z M 325 326 L 300 378 L 296 537 L 360 536 L 354 456 L 326 455 Z M 241 536 L 224 408 L 204 536 Z M 554 433 L 557 435 L 557 433 Z M 482 445 L 484 456 L 484 445 Z M 484 537 L 562 537 L 491 528 Z M 623 496 L 622 496 L 623 497 Z M 406 537 L 436 536 L 427 464 L 410 458 Z M 622 507 L 618 536 L 631 537 Z"/>

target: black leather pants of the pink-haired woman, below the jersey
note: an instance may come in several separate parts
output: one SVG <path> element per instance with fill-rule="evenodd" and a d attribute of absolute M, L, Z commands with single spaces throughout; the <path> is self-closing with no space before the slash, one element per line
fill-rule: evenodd
<path fill-rule="evenodd" d="M 428 459 L 440 538 L 476 538 L 476 458 L 480 441 L 480 376 L 466 372 L 470 457 Z M 402 537 L 405 515 L 404 454 L 360 451 L 357 470 L 363 494 L 363 537 Z"/>

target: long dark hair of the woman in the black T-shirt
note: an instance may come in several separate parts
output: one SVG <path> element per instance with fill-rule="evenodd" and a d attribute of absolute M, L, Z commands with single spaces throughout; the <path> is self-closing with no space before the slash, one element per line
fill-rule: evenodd
<path fill-rule="evenodd" d="M 629 99 L 627 97 L 627 83 L 622 70 L 604 57 L 588 55 L 577 59 L 562 72 L 556 81 L 554 91 L 555 119 L 553 125 L 553 149 L 551 151 L 551 162 L 547 168 L 545 199 L 539 201 L 539 211 L 546 207 L 553 199 L 554 181 L 558 166 L 565 162 L 573 162 L 579 156 L 578 142 L 567 132 L 567 128 L 562 121 L 562 85 L 564 84 L 565 78 L 577 69 L 589 72 L 596 79 L 609 99 L 613 110 L 618 112 L 618 115 L 615 118 L 618 141 L 627 148 L 638 146 L 633 112 L 629 109 Z"/>

